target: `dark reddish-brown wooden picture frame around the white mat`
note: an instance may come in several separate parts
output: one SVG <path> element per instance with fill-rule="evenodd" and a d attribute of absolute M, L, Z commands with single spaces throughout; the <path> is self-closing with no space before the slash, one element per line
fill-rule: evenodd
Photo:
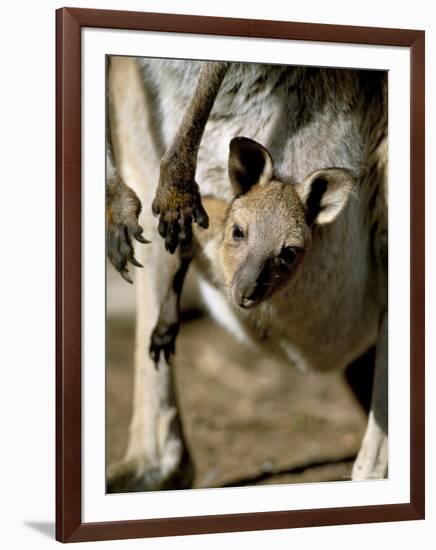
<path fill-rule="evenodd" d="M 81 29 L 85 27 L 402 46 L 411 53 L 410 502 L 374 506 L 82 523 Z M 56 539 L 61 542 L 423 519 L 423 31 L 62 8 L 56 13 Z"/>

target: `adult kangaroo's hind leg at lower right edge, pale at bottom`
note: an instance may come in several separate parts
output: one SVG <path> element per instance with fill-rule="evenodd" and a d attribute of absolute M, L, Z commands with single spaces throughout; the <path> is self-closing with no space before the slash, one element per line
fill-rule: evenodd
<path fill-rule="evenodd" d="M 388 315 L 377 341 L 374 387 L 368 426 L 353 466 L 352 479 L 381 479 L 388 474 Z"/>

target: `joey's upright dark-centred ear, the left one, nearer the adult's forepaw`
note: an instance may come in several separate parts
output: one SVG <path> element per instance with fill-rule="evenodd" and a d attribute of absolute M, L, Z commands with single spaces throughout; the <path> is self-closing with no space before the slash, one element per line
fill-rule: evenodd
<path fill-rule="evenodd" d="M 272 175 L 273 162 L 265 147 L 245 137 L 232 139 L 229 177 L 236 195 L 246 193 L 256 183 L 268 183 Z"/>

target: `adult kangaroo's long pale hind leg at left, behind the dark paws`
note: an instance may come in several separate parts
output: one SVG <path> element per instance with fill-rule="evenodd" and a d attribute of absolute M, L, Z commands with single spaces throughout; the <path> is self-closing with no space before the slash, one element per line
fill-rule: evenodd
<path fill-rule="evenodd" d="M 178 259 L 161 244 L 150 209 L 159 171 L 147 95 L 133 60 L 118 59 L 114 103 L 118 111 L 118 145 L 122 174 L 144 208 L 140 223 L 152 244 L 139 246 L 144 266 L 136 272 L 136 342 L 133 411 L 123 459 L 107 472 L 108 492 L 184 488 L 192 484 L 193 467 L 180 422 L 173 372 L 164 357 L 158 368 L 149 356 L 163 291 L 177 271 Z M 115 60 L 114 60 L 115 65 Z M 145 95 L 145 97 L 144 97 Z"/>

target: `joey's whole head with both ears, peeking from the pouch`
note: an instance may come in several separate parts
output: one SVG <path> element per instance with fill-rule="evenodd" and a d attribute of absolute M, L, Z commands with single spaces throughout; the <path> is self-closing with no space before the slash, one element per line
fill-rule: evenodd
<path fill-rule="evenodd" d="M 220 258 L 227 288 L 240 307 L 250 308 L 295 276 L 314 228 L 338 217 L 353 178 L 347 170 L 328 168 L 300 183 L 281 182 L 274 177 L 269 152 L 243 137 L 230 143 L 229 177 L 235 199 L 225 220 Z"/>

